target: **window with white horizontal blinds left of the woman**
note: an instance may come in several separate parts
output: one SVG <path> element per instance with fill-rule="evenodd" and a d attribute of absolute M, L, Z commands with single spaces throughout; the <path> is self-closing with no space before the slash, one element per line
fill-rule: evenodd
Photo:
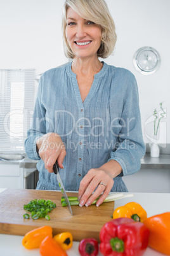
<path fill-rule="evenodd" d="M 35 69 L 0 69 L 0 152 L 25 152 L 35 76 Z"/>

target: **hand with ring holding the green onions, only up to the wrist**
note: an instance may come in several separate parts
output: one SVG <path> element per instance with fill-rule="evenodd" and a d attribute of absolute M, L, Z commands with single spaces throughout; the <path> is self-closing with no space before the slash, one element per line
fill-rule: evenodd
<path fill-rule="evenodd" d="M 100 182 L 103 184 L 100 184 Z M 84 176 L 84 178 L 81 180 L 79 188 L 79 197 L 81 196 L 81 200 L 79 206 L 84 206 L 84 204 L 85 206 L 89 206 L 103 192 L 102 196 L 96 203 L 96 206 L 99 206 L 108 196 L 113 185 L 114 180 L 108 171 L 101 168 L 90 169 L 86 176 Z M 91 196 L 94 190 L 95 192 Z"/>

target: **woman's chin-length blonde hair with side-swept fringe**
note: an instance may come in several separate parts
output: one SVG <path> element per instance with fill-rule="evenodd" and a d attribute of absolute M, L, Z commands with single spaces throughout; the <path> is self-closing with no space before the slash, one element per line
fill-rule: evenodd
<path fill-rule="evenodd" d="M 101 45 L 98 57 L 107 58 L 113 51 L 117 39 L 115 24 L 105 0 L 65 0 L 62 17 L 63 50 L 67 58 L 73 59 L 72 52 L 65 35 L 67 10 L 71 7 L 79 16 L 101 25 Z"/>

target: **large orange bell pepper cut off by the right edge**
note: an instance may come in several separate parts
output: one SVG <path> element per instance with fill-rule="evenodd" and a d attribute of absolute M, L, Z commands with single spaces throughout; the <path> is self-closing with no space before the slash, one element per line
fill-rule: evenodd
<path fill-rule="evenodd" d="M 147 218 L 143 224 L 150 231 L 148 245 L 161 253 L 170 255 L 170 212 Z"/>

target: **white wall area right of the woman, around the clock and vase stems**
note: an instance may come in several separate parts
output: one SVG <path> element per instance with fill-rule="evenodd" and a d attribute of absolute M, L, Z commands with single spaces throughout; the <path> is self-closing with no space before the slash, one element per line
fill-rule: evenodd
<path fill-rule="evenodd" d="M 109 64 L 129 69 L 136 76 L 140 93 L 141 120 L 144 125 L 159 103 L 167 108 L 166 127 L 161 131 L 160 143 L 170 143 L 170 1 L 169 0 L 106 0 L 114 17 L 117 44 Z M 141 75 L 134 69 L 133 55 L 138 48 L 152 46 L 160 54 L 159 70 L 153 75 Z M 152 131 L 151 131 L 152 129 Z M 147 134 L 152 136 L 154 123 L 147 126 Z M 143 132 L 145 142 L 150 141 Z"/>

